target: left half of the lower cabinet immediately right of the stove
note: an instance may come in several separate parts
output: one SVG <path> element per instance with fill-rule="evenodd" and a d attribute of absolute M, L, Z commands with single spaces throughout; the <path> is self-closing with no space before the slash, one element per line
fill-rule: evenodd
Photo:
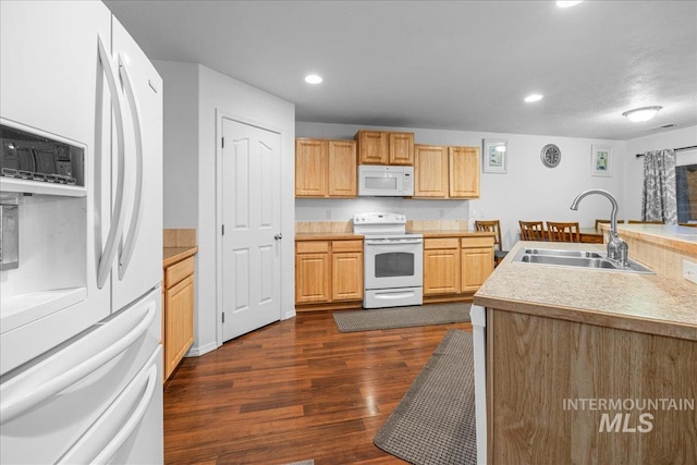
<path fill-rule="evenodd" d="M 438 246 L 449 248 L 430 248 Z M 458 292 L 460 242 L 455 237 L 425 240 L 424 295 L 456 294 Z"/>

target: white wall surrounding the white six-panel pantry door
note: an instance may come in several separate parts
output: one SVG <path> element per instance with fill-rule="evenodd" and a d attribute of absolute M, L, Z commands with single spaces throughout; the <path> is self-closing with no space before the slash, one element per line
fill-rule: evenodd
<path fill-rule="evenodd" d="M 218 112 L 281 132 L 282 244 L 281 318 L 294 305 L 295 106 L 199 64 L 156 61 L 164 81 L 166 228 L 196 228 L 196 315 L 194 345 L 200 355 L 222 344 L 221 283 L 217 268 Z M 171 194 L 171 195 L 170 195 Z"/>

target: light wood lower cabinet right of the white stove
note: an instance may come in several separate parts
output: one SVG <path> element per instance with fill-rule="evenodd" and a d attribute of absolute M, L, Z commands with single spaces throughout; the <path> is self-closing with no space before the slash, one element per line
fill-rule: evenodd
<path fill-rule="evenodd" d="M 425 297 L 448 301 L 470 296 L 492 271 L 493 237 L 424 240 Z"/>

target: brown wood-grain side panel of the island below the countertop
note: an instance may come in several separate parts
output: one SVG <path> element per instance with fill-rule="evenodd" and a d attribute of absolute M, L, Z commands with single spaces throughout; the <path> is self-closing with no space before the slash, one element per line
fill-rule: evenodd
<path fill-rule="evenodd" d="M 574 399 L 694 402 L 696 342 L 492 309 L 487 331 L 490 463 L 697 463 L 695 411 L 564 409 Z M 617 413 L 627 431 L 599 432 Z M 644 413 L 652 429 L 632 432 Z"/>

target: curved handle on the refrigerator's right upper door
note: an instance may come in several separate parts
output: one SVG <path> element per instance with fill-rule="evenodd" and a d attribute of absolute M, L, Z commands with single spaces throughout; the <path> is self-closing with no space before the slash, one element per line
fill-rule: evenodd
<path fill-rule="evenodd" d="M 135 240 L 138 235 L 140 227 L 142 216 L 142 203 L 143 203 L 143 132 L 140 130 L 140 117 L 138 112 L 138 102 L 135 99 L 133 91 L 133 84 L 129 76 L 129 70 L 121 56 L 119 56 L 119 75 L 123 82 L 126 99 L 131 107 L 131 115 L 133 119 L 133 131 L 135 133 L 135 196 L 133 199 L 133 211 L 131 213 L 131 224 L 129 225 L 129 233 L 126 234 L 125 245 L 119 256 L 119 280 L 122 280 L 131 257 L 133 256 L 133 249 L 135 247 Z"/>

